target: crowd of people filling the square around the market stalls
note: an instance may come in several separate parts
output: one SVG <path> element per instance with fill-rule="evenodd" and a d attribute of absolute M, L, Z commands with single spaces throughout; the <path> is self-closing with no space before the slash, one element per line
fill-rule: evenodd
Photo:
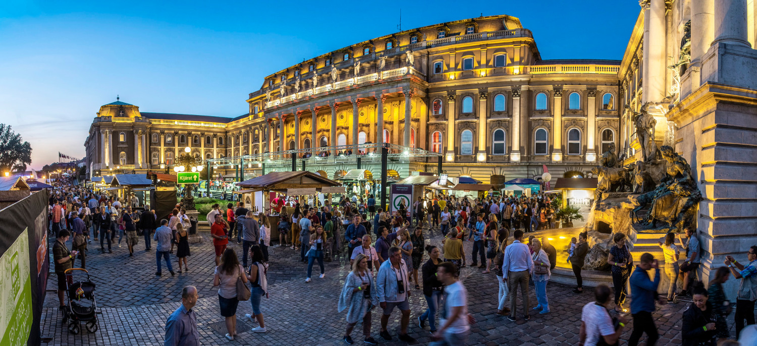
<path fill-rule="evenodd" d="M 77 258 L 84 267 L 87 245 L 92 240 L 96 242 L 98 236 L 103 252 L 105 242 L 110 251 L 111 243 L 120 245 L 120 239 L 126 238 L 129 255 L 132 255 L 139 239 L 137 232 L 141 232 L 146 251 L 151 250 L 151 241 L 156 243 L 156 275 L 162 275 L 163 262 L 171 275 L 175 275 L 170 259 L 174 249 L 179 273 L 189 270 L 187 257 L 191 249 L 185 210 L 173 210 L 170 217 L 157 220 L 149 207 L 136 210 L 131 201 L 124 205 L 118 198 L 96 195 L 73 185 L 59 191 L 61 193 L 51 195 L 50 229 L 56 238 L 53 254 L 61 305 L 65 289 L 64 279 L 61 279 L 63 271 L 73 267 Z M 551 313 L 547 283 L 556 267 L 557 250 L 547 237 L 528 235 L 537 229 L 553 227 L 554 206 L 549 197 L 505 196 L 480 200 L 431 197 L 419 198 L 413 205 L 401 206 L 394 213 L 375 207 L 369 210 L 367 205 L 353 201 L 335 207 L 307 204 L 301 207 L 299 203 L 284 207 L 275 201 L 273 206 L 278 211 L 275 217 L 254 214 L 241 203 L 227 204 L 226 210 L 214 205 L 207 220 L 216 261 L 213 285 L 218 287 L 220 312 L 228 332 L 226 338 L 237 338 L 239 301 L 251 301 L 253 313 L 245 315 L 257 324 L 251 331 L 267 332 L 260 304 L 261 298 L 269 295 L 267 276 L 272 259 L 268 248 L 272 245 L 274 228 L 280 234 L 278 246 L 295 250 L 304 268 L 307 267 L 305 282 L 312 282 L 316 263 L 319 269 L 316 274 L 322 279 L 326 276 L 324 260 L 340 255 L 349 258 L 351 270 L 344 278 L 337 304 L 338 311 L 346 313 L 343 336 L 346 344 L 354 344 L 352 335 L 357 323 L 363 325 L 363 342 L 378 344 L 371 334 L 372 312 L 377 307 L 380 310 L 375 311 L 381 313 L 378 336 L 385 341 L 394 339 L 388 325 L 397 308 L 400 325 L 396 337 L 414 343 L 416 340 L 408 332 L 410 297 L 414 293 L 422 294 L 426 304 L 413 325 L 428 330 L 432 344 L 466 344 L 475 320 L 467 310 L 467 290 L 459 279 L 461 268 L 468 262 L 463 242 L 472 242 L 469 260 L 472 267 L 478 269 L 475 275 L 491 275 L 494 271 L 496 279 L 492 279 L 496 280 L 499 290 L 491 301 L 497 315 L 516 322 Z M 91 239 L 90 231 L 94 235 Z M 427 238 L 435 234 L 441 239 L 429 242 Z M 628 320 L 633 321 L 629 345 L 638 344 L 645 334 L 646 344 L 655 344 L 659 338 L 653 318 L 656 304 L 671 304 L 676 299 L 692 301 L 681 316 L 683 344 L 714 346 L 718 341 L 735 342 L 729 341 L 732 335 L 726 317 L 731 313 L 731 305 L 723 289 L 731 276 L 741 280 L 736 298 L 736 337 L 743 340 L 755 337 L 757 246 L 746 254 L 749 263 L 727 257 L 724 261 L 727 267 L 718 267 L 709 288 L 705 288 L 695 279 L 701 257 L 696 232 L 687 228 L 685 234 L 685 238 L 681 235 L 677 238 L 671 233 L 665 242 L 659 242 L 665 254 L 665 275 L 673 283 L 662 295 L 657 292 L 661 267 L 658 260 L 648 253 L 634 260 L 625 235 L 614 235 L 614 246 L 607 258 L 612 268 L 614 291 L 606 285 L 593 289 L 593 301 L 584 305 L 581 312 L 581 345 L 618 344 Z M 118 242 L 116 235 L 119 235 Z M 68 241 L 72 242 L 71 250 L 67 248 Z M 241 244 L 242 253 L 228 248 L 229 241 Z M 685 251 L 680 268 L 679 248 Z M 581 268 L 588 252 L 586 233 L 572 239 L 565 251 L 569 252 L 569 263 L 577 279 L 573 292 L 581 294 L 584 291 Z M 648 275 L 650 270 L 654 272 L 652 277 Z M 676 290 L 678 280 L 684 283 L 684 291 Z M 627 286 L 630 292 L 626 291 Z M 537 297 L 535 307 L 529 299 L 531 289 Z M 197 297 L 195 287 L 183 289 L 182 305 L 167 321 L 165 344 L 199 344 L 197 317 L 192 310 Z M 630 305 L 626 302 L 629 299 Z M 626 314 L 626 307 L 630 309 L 630 316 Z M 532 310 L 537 314 L 531 316 Z"/>

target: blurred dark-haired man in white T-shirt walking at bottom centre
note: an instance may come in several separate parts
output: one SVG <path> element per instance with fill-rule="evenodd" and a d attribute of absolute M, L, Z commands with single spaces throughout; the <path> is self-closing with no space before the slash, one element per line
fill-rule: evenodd
<path fill-rule="evenodd" d="M 432 346 L 459 346 L 466 344 L 470 334 L 468 291 L 455 277 L 457 269 L 452 262 L 442 262 L 436 276 L 444 284 L 444 310 L 441 312 L 441 328 L 431 335 Z"/>

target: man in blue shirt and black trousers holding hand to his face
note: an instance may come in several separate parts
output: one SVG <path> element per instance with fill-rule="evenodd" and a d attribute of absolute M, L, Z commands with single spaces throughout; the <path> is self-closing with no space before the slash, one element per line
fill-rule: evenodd
<path fill-rule="evenodd" d="M 650 280 L 647 270 L 655 270 L 655 279 Z M 641 255 L 634 273 L 631 273 L 631 316 L 634 316 L 634 331 L 628 338 L 629 346 L 636 346 L 641 335 L 646 332 L 646 344 L 653 345 L 657 341 L 657 327 L 652 318 L 657 300 L 657 285 L 660 283 L 660 270 L 657 260 L 652 254 L 645 252 Z"/>

